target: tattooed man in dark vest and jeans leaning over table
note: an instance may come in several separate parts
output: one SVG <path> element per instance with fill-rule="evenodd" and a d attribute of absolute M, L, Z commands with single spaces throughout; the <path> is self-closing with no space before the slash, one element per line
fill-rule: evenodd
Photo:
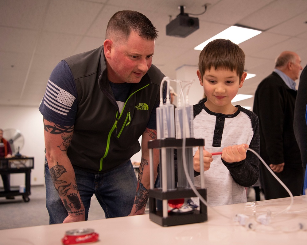
<path fill-rule="evenodd" d="M 107 218 L 144 213 L 147 142 L 156 138 L 164 77 L 151 65 L 156 38 L 146 16 L 119 11 L 107 25 L 103 46 L 66 58 L 52 71 L 40 106 L 50 224 L 87 220 L 93 194 Z M 137 180 L 130 157 L 140 150 L 141 135 Z"/>

